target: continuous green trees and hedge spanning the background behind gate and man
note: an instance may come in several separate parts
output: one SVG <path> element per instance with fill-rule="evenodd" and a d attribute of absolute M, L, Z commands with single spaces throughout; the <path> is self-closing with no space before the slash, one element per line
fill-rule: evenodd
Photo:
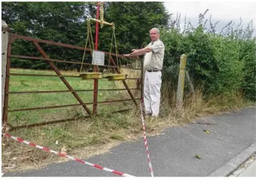
<path fill-rule="evenodd" d="M 71 45 L 85 45 L 87 16 L 95 18 L 95 2 L 3 2 L 2 19 L 14 33 L 53 40 Z M 157 27 L 165 43 L 163 81 L 177 89 L 180 55 L 187 55 L 186 69 L 195 87 L 202 87 L 209 94 L 243 92 L 256 100 L 256 38 L 252 22 L 246 28 L 228 22 L 217 32 L 218 22 L 198 16 L 198 27 L 187 22 L 181 27 L 180 15 L 170 20 L 162 2 L 105 2 L 104 19 L 115 22 L 115 34 L 119 54 L 129 53 L 149 43 L 148 31 Z M 95 25 L 91 22 L 92 31 Z M 93 33 L 95 38 L 95 34 Z M 110 50 L 112 29 L 100 28 L 99 49 Z M 83 51 L 70 50 L 53 45 L 42 45 L 46 54 L 54 59 L 79 61 Z M 113 45 L 112 51 L 115 51 Z M 30 42 L 16 40 L 13 54 L 40 56 Z M 86 59 L 89 60 L 89 59 Z M 89 62 L 89 61 L 88 61 Z M 79 65 L 56 63 L 59 69 L 79 69 Z M 41 60 L 11 60 L 12 67 L 48 69 Z"/>

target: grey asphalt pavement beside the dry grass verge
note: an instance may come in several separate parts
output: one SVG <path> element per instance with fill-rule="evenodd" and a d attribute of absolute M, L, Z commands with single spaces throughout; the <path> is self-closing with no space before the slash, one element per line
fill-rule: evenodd
<path fill-rule="evenodd" d="M 255 110 L 256 107 L 249 107 L 234 113 L 209 116 L 198 119 L 196 122 L 201 122 L 200 124 L 168 128 L 162 131 L 162 135 L 147 137 L 154 175 L 156 177 L 228 175 L 256 151 Z M 203 130 L 210 133 L 207 134 Z M 196 158 L 195 155 L 200 156 L 201 159 Z M 112 148 L 109 154 L 100 154 L 86 161 L 129 175 L 150 177 L 142 137 L 137 142 L 124 142 Z M 29 172 L 4 174 L 4 177 L 114 176 L 118 175 L 76 161 L 52 164 Z"/>

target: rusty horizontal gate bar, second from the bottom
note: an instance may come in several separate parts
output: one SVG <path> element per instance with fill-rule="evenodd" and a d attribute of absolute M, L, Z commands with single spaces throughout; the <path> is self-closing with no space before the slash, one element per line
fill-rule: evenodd
<path fill-rule="evenodd" d="M 133 98 L 133 99 L 120 99 L 120 100 L 114 100 L 114 101 L 100 101 L 97 102 L 97 104 L 104 104 L 104 103 L 112 103 L 112 102 L 121 102 L 121 101 L 132 101 L 132 100 L 138 100 L 139 98 Z M 67 104 L 67 105 L 61 105 L 61 106 L 53 106 L 53 107 L 32 107 L 32 108 L 25 108 L 25 109 L 16 109 L 16 110 L 7 110 L 8 113 L 11 112 L 17 112 L 17 111 L 25 111 L 25 110 L 45 110 L 45 109 L 53 109 L 53 108 L 60 108 L 60 107 L 73 107 L 73 106 L 85 106 L 91 103 L 85 103 L 85 104 Z"/>

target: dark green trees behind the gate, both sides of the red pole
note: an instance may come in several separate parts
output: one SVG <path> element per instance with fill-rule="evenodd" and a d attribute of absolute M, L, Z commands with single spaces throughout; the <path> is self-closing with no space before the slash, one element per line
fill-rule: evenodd
<path fill-rule="evenodd" d="M 138 14 L 138 11 L 141 13 Z M 132 48 L 140 48 L 148 42 L 148 31 L 154 25 L 167 25 L 168 13 L 162 2 L 106 2 L 105 20 L 115 22 L 116 38 L 120 53 L 128 53 Z M 95 2 L 3 2 L 2 19 L 13 33 L 58 43 L 85 46 L 88 16 L 95 18 Z M 95 39 L 95 23 L 91 22 Z M 141 31 L 142 30 L 142 31 Z M 100 29 L 99 49 L 109 51 L 112 29 L 106 25 Z M 95 43 L 95 42 L 94 42 Z M 41 45 L 46 54 L 53 59 L 82 61 L 83 51 L 55 45 Z M 114 45 L 115 46 L 115 45 Z M 40 56 L 31 42 L 17 40 L 13 43 L 13 54 Z M 59 69 L 79 69 L 79 65 L 56 63 Z M 40 60 L 11 61 L 12 67 L 29 69 L 48 69 Z"/>

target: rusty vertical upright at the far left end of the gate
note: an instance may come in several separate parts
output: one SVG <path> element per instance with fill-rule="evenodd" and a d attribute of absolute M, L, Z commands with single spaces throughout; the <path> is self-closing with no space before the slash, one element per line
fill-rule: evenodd
<path fill-rule="evenodd" d="M 8 102 L 9 102 L 9 85 L 10 85 L 10 54 L 11 54 L 11 44 L 15 41 L 14 37 L 9 35 L 8 37 L 8 44 L 7 44 L 7 62 L 6 62 L 6 76 L 5 76 L 5 87 L 4 87 L 4 108 L 3 108 L 3 116 L 2 116 L 2 124 L 3 124 L 3 131 L 6 130 L 6 125 L 8 122 Z"/>

